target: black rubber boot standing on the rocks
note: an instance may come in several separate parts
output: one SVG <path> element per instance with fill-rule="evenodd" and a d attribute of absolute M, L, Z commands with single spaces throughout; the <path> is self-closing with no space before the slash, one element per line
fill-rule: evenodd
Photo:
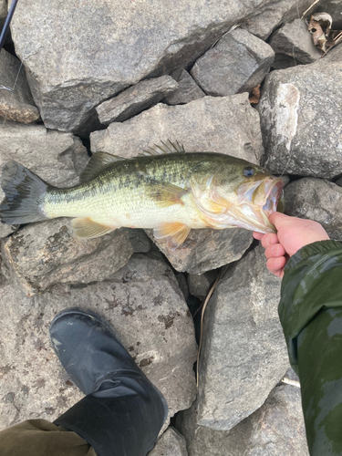
<path fill-rule="evenodd" d="M 87 396 L 55 424 L 74 430 L 99 456 L 145 456 L 168 406 L 101 316 L 66 309 L 50 326 L 51 343 L 72 381 Z"/>

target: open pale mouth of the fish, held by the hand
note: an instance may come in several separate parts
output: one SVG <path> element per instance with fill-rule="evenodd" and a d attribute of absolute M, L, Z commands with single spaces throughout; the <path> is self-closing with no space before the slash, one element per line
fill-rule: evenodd
<path fill-rule="evenodd" d="M 269 222 L 268 217 L 276 212 L 278 202 L 283 203 L 284 187 L 285 180 L 276 177 L 241 185 L 237 191 L 240 222 L 248 224 L 248 229 L 259 233 L 276 233 L 275 226 Z"/>

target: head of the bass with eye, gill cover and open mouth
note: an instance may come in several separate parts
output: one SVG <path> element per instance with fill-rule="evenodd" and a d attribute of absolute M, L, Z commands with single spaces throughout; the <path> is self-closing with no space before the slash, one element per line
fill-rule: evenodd
<path fill-rule="evenodd" d="M 239 226 L 259 233 L 276 233 L 271 213 L 284 209 L 285 180 L 264 168 L 235 159 L 207 181 L 199 206 L 213 228 Z"/>

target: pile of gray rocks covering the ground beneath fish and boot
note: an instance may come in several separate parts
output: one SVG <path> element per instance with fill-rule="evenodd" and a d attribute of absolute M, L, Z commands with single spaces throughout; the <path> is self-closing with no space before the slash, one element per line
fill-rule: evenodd
<path fill-rule="evenodd" d="M 130 158 L 178 140 L 287 174 L 286 213 L 342 241 L 342 45 L 321 58 L 298 17 L 312 3 L 19 2 L 0 53 L 0 165 L 15 160 L 67 187 L 90 153 Z M 332 16 L 337 3 L 326 2 Z M 299 389 L 280 383 L 280 280 L 250 232 L 193 230 L 171 251 L 149 230 L 82 241 L 57 219 L 1 225 L 0 238 L 1 429 L 54 420 L 81 398 L 47 333 L 58 311 L 80 306 L 116 327 L 168 400 L 150 455 L 308 454 Z M 196 389 L 192 314 L 223 265 Z"/>

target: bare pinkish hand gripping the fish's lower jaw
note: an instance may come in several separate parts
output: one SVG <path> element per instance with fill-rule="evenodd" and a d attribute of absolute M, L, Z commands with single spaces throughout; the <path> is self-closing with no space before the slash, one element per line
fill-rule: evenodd
<path fill-rule="evenodd" d="M 329 236 L 320 223 L 298 219 L 284 213 L 274 212 L 269 221 L 275 225 L 277 233 L 253 233 L 254 239 L 261 241 L 267 258 L 270 273 L 283 277 L 284 267 L 290 256 L 307 244 L 326 241 Z"/>

